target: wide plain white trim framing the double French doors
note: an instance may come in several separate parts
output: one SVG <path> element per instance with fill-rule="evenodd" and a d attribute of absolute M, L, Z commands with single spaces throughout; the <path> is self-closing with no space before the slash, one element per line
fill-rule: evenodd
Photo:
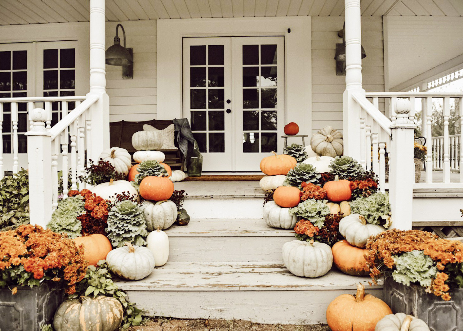
<path fill-rule="evenodd" d="M 304 17 L 243 17 L 157 20 L 159 120 L 182 118 L 182 38 L 284 36 L 285 123 L 312 132 L 312 21 Z"/>

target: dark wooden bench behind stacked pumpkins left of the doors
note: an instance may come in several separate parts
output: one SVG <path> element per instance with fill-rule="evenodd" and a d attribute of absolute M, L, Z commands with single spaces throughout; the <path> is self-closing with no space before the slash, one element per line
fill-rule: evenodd
<path fill-rule="evenodd" d="M 142 122 L 119 121 L 109 123 L 109 140 L 111 146 L 125 148 L 130 155 L 137 152 L 132 146 L 132 135 L 137 131 L 143 131 L 143 125 L 149 124 L 158 130 L 165 129 L 172 121 L 151 120 Z M 174 139 L 176 149 L 160 149 L 166 155 L 164 163 L 168 164 L 172 170 L 183 170 L 183 154 L 178 148 L 177 141 Z M 132 161 L 132 164 L 135 162 Z"/>

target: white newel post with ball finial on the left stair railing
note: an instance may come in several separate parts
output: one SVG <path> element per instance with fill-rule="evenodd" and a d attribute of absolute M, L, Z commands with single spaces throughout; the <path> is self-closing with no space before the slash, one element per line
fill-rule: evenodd
<path fill-rule="evenodd" d="M 29 214 L 32 225 L 46 227 L 52 213 L 51 197 L 51 134 L 45 128 L 48 111 L 32 110 L 31 131 L 27 136 L 27 160 L 29 169 Z"/>

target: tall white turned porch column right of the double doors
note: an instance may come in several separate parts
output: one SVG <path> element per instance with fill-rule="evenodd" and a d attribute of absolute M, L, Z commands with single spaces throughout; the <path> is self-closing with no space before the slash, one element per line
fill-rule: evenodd
<path fill-rule="evenodd" d="M 362 45 L 360 0 L 344 0 L 346 43 L 346 89 L 343 98 L 344 155 L 360 160 L 360 106 L 352 93 L 362 88 Z"/>

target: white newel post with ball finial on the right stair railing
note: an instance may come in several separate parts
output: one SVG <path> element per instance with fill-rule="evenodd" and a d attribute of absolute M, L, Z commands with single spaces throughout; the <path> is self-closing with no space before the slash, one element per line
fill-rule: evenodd
<path fill-rule="evenodd" d="M 389 159 L 389 202 L 391 204 L 392 228 L 412 229 L 413 184 L 415 164 L 413 142 L 416 125 L 409 119 L 411 103 L 396 102 L 397 118 L 390 126 L 392 130 Z"/>

